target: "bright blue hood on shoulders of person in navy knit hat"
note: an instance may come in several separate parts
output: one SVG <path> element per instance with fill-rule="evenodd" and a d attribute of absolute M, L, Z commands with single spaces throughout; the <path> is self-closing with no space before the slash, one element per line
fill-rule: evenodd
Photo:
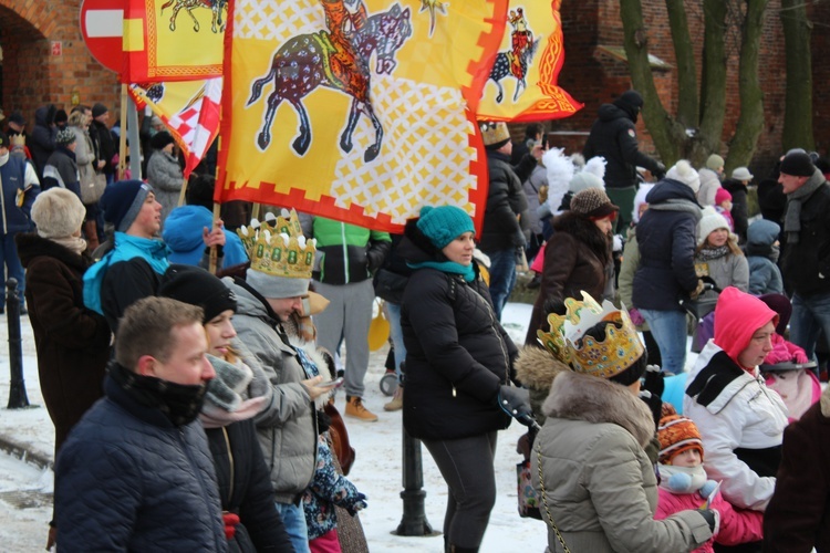
<path fill-rule="evenodd" d="M 157 239 L 139 238 L 116 231 L 114 247 L 84 273 L 84 305 L 92 311 L 104 314 L 101 306 L 101 285 L 110 265 L 120 261 L 142 258 L 158 274 L 164 274 L 168 267 L 167 246 Z"/>

